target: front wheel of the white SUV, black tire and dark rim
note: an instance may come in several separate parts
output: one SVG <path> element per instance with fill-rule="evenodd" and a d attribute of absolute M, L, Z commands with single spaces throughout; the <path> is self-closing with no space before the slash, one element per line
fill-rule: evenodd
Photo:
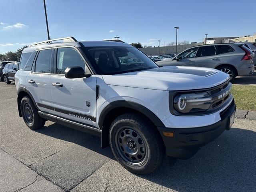
<path fill-rule="evenodd" d="M 153 172 L 164 158 L 162 138 L 136 113 L 123 114 L 112 122 L 109 141 L 118 162 L 135 174 Z"/>

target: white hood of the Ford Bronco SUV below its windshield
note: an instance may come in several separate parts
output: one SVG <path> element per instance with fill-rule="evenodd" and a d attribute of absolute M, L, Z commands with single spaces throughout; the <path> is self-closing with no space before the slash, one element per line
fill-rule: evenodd
<path fill-rule="evenodd" d="M 117 75 L 102 75 L 108 85 L 155 90 L 205 89 L 222 84 L 230 76 L 219 70 L 203 67 L 168 66 Z"/>

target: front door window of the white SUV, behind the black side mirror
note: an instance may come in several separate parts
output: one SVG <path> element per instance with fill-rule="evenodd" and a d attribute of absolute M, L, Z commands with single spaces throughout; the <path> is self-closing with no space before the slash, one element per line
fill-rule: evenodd
<path fill-rule="evenodd" d="M 58 48 L 57 50 L 57 74 L 64 74 L 66 68 L 80 66 L 85 71 L 85 62 L 82 56 L 74 48 Z"/>

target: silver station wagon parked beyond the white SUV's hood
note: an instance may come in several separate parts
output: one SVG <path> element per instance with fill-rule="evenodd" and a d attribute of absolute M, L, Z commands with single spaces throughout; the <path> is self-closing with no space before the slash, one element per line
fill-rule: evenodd
<path fill-rule="evenodd" d="M 156 62 L 160 66 L 197 66 L 221 70 L 230 75 L 250 75 L 254 72 L 254 53 L 244 44 L 221 43 L 189 48 L 170 60 Z"/>

